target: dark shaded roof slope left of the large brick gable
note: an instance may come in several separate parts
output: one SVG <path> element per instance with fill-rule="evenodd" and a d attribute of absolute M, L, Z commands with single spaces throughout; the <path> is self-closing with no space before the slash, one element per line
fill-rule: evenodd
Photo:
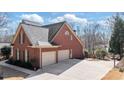
<path fill-rule="evenodd" d="M 53 37 L 56 35 L 64 23 L 65 21 L 42 26 L 49 29 L 49 41 L 53 39 Z"/>

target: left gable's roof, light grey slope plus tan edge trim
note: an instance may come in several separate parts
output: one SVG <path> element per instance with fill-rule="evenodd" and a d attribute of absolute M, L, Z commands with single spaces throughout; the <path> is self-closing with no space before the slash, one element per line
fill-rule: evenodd
<path fill-rule="evenodd" d="M 43 28 L 41 26 L 34 26 L 31 24 L 22 22 L 19 24 L 17 28 L 16 34 L 12 40 L 12 44 L 15 42 L 21 28 L 23 28 L 26 36 L 28 37 L 32 45 L 38 45 L 39 41 L 48 42 L 48 31 L 49 30 L 47 28 Z"/>

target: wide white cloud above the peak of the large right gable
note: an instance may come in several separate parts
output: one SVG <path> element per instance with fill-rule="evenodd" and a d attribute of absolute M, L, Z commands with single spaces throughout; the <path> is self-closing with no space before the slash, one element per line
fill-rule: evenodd
<path fill-rule="evenodd" d="M 50 22 L 52 23 L 60 22 L 60 21 L 74 22 L 78 24 L 84 24 L 88 22 L 86 18 L 77 17 L 74 14 L 65 14 L 64 16 L 59 16 L 57 18 L 50 20 Z"/>

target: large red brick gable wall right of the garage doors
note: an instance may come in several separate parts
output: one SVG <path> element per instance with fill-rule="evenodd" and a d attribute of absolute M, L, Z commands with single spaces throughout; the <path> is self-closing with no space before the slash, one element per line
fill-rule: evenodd
<path fill-rule="evenodd" d="M 72 58 L 83 58 L 83 46 L 69 30 L 68 26 L 64 24 L 62 29 L 60 29 L 60 32 L 53 39 L 52 43 L 62 45 L 60 49 L 72 49 Z M 65 35 L 66 31 L 69 32 L 69 35 Z M 73 38 L 72 40 L 71 36 Z"/>

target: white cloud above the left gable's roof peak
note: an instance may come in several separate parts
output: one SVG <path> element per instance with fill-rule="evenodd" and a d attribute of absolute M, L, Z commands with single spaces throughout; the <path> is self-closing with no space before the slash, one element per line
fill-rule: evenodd
<path fill-rule="evenodd" d="M 21 18 L 29 21 L 38 22 L 41 24 L 44 23 L 43 17 L 39 16 L 38 14 L 23 14 L 21 15 Z"/>

